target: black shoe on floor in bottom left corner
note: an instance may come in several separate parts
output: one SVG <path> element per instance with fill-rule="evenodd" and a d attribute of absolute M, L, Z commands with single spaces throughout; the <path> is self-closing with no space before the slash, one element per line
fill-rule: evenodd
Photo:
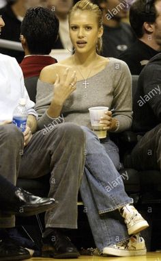
<path fill-rule="evenodd" d="M 24 260 L 31 258 L 27 249 L 19 247 L 11 238 L 0 240 L 0 261 Z"/>

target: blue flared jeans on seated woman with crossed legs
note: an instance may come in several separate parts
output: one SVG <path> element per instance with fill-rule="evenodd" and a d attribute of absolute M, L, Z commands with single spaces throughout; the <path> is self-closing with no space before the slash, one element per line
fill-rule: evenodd
<path fill-rule="evenodd" d="M 128 235 L 118 208 L 133 203 L 125 192 L 120 169 L 119 149 L 109 138 L 100 140 L 90 129 L 86 134 L 85 173 L 81 182 L 81 197 L 87 212 L 96 247 L 127 240 Z"/>

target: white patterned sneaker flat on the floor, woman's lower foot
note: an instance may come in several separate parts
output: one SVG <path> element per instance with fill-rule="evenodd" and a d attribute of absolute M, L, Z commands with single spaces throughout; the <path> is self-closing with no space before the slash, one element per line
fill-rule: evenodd
<path fill-rule="evenodd" d="M 139 234 L 124 243 L 104 247 L 102 251 L 103 256 L 145 256 L 146 253 L 145 240 Z"/>

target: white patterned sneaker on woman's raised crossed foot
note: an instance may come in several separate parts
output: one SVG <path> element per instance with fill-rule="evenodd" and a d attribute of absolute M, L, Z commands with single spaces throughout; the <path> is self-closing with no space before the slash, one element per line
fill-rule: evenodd
<path fill-rule="evenodd" d="M 133 205 L 126 205 L 119 212 L 125 219 L 129 235 L 136 234 L 149 227 L 147 221 L 143 219 L 143 216 L 138 213 L 138 210 Z"/>

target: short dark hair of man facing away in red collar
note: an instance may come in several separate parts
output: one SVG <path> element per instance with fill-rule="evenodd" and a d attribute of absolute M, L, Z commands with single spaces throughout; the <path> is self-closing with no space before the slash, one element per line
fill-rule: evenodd
<path fill-rule="evenodd" d="M 29 8 L 20 27 L 31 54 L 48 54 L 57 40 L 59 20 L 48 8 Z"/>

